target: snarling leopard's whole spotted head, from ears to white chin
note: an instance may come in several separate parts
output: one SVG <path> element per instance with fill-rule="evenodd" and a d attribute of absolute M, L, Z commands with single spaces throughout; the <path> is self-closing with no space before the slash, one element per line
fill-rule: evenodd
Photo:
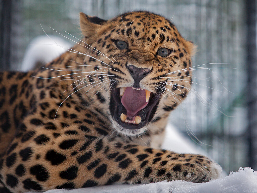
<path fill-rule="evenodd" d="M 169 20 L 148 12 L 109 21 L 82 14 L 81 30 L 94 57 L 84 62 L 94 74 L 89 93 L 104 97 L 99 104 L 118 132 L 144 133 L 187 95 L 193 45 Z"/>

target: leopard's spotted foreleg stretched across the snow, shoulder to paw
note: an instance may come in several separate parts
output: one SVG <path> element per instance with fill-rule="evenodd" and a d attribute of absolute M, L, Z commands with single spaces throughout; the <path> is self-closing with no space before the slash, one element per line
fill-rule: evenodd
<path fill-rule="evenodd" d="M 113 182 L 205 182 L 219 175 L 219 167 L 201 155 L 126 142 L 121 137 L 110 137 L 107 128 L 89 124 L 88 120 L 58 129 L 58 120 L 53 124 L 35 117 L 24 119 L 26 131 L 16 136 L 0 160 L 1 181 L 12 192 Z"/>

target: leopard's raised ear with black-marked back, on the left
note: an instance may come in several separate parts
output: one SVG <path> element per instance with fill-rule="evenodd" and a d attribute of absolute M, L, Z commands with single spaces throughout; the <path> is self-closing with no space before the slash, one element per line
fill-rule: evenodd
<path fill-rule="evenodd" d="M 106 20 L 96 16 L 88 16 L 80 12 L 80 29 L 88 41 L 93 40 L 99 33 L 99 29 L 106 23 Z M 90 42 L 89 42 L 90 43 Z"/>

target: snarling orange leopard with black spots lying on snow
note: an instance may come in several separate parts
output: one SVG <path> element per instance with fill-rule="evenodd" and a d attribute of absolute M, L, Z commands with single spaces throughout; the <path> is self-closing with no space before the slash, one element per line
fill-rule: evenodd
<path fill-rule="evenodd" d="M 212 159 L 161 149 L 194 44 L 147 11 L 80 12 L 80 29 L 44 67 L 0 73 L 0 192 L 219 178 Z"/>

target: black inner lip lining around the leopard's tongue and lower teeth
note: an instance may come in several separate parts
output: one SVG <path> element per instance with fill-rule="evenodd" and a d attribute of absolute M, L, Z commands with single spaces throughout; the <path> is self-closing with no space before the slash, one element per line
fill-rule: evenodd
<path fill-rule="evenodd" d="M 142 119 L 139 124 L 133 124 L 133 122 L 130 122 L 130 123 L 123 122 L 121 120 L 121 114 L 123 113 L 127 115 L 127 109 L 122 105 L 120 88 L 116 88 L 111 91 L 111 100 L 110 100 L 109 108 L 113 119 L 119 125 L 127 129 L 140 129 L 144 127 L 146 124 L 148 124 L 153 118 L 155 110 L 159 103 L 159 99 L 160 99 L 160 94 L 151 93 L 151 97 L 147 102 L 146 106 L 143 109 L 137 111 L 136 113 L 134 112 L 135 114 L 132 117 L 135 118 L 135 116 L 140 116 L 140 118 Z"/>

